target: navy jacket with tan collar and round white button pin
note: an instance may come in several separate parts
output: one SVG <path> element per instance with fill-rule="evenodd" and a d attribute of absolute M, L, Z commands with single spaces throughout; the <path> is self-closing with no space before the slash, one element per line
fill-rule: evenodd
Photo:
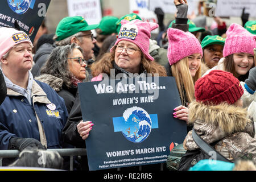
<path fill-rule="evenodd" d="M 34 80 L 31 103 L 21 94 L 7 89 L 6 99 L 0 106 L 0 150 L 8 149 L 11 137 L 40 141 L 39 127 L 44 131 L 47 148 L 62 148 L 61 131 L 68 118 L 63 98 L 49 85 Z"/>

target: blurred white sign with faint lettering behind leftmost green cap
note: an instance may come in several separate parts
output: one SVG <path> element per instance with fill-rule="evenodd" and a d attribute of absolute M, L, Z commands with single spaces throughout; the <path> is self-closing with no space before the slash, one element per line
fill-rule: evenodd
<path fill-rule="evenodd" d="M 100 23 L 100 0 L 68 0 L 67 3 L 69 16 L 82 16 L 88 24 Z"/>

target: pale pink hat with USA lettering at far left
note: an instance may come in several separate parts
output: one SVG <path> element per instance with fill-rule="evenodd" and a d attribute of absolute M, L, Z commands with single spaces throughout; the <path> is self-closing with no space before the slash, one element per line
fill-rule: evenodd
<path fill-rule="evenodd" d="M 28 35 L 14 28 L 1 27 L 0 28 L 0 60 L 13 46 L 23 42 L 32 42 Z"/>

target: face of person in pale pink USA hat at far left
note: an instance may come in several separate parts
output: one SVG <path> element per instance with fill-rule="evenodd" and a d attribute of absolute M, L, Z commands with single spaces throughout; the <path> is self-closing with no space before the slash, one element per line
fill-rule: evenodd
<path fill-rule="evenodd" d="M 32 46 L 30 43 L 20 43 L 9 52 L 4 64 L 13 72 L 28 72 L 32 68 Z"/>

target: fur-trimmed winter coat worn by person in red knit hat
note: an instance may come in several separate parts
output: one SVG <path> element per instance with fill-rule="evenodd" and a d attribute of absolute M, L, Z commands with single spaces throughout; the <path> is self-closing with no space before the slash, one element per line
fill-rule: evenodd
<path fill-rule="evenodd" d="M 229 160 L 249 159 L 256 164 L 254 122 L 247 117 L 246 109 L 234 105 L 204 105 L 193 101 L 189 104 L 189 122 L 200 137 L 213 144 L 216 151 Z M 199 147 L 189 131 L 183 142 L 185 150 Z"/>

